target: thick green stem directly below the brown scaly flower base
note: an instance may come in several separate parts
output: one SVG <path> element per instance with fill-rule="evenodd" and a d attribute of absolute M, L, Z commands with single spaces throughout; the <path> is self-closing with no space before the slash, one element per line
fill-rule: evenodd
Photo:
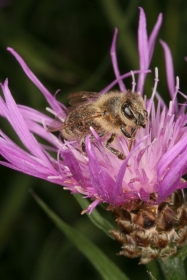
<path fill-rule="evenodd" d="M 169 257 L 159 260 L 162 272 L 166 280 L 186 280 L 184 262 L 179 257 Z"/>

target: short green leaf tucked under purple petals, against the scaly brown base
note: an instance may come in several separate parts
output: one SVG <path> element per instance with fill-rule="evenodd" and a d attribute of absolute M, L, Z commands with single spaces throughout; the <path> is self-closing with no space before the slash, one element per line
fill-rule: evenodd
<path fill-rule="evenodd" d="M 84 210 L 89 206 L 89 202 L 86 199 L 83 199 L 81 197 L 81 195 L 74 195 L 75 199 L 77 200 L 77 202 L 79 203 L 79 205 L 81 206 L 81 208 Z M 111 236 L 111 234 L 109 233 L 110 230 L 114 229 L 114 225 L 112 225 L 111 223 L 109 223 L 106 219 L 104 219 L 99 212 L 97 211 L 97 209 L 94 209 L 94 211 L 92 212 L 91 215 L 87 214 L 88 218 L 91 220 L 91 222 L 96 225 L 98 228 L 100 228 L 101 230 L 103 230 L 110 238 L 113 239 L 113 237 Z"/>

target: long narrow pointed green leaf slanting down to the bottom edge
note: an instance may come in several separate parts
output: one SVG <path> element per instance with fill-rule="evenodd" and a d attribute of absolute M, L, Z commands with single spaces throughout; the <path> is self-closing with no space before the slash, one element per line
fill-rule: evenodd
<path fill-rule="evenodd" d="M 31 193 L 48 217 L 77 249 L 90 260 L 103 279 L 129 280 L 129 278 L 96 245 L 87 239 L 87 237 L 62 221 L 35 193 Z"/>

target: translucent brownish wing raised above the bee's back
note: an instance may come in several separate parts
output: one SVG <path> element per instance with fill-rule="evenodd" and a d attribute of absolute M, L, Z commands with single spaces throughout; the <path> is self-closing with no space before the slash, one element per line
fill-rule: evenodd
<path fill-rule="evenodd" d="M 98 92 L 78 91 L 78 92 L 70 93 L 68 99 L 69 99 L 69 104 L 71 106 L 79 106 L 94 101 L 95 99 L 98 99 L 100 96 L 101 95 Z"/>

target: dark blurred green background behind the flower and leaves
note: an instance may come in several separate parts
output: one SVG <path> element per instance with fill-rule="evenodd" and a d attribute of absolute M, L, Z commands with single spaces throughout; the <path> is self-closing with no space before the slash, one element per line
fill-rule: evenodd
<path fill-rule="evenodd" d="M 100 91 L 114 80 L 110 46 L 118 27 L 121 73 L 138 69 L 138 6 L 147 15 L 148 32 L 159 12 L 164 14 L 159 38 L 171 48 L 175 75 L 187 92 L 187 1 L 125 0 L 0 0 L 0 81 L 9 78 L 17 103 L 45 112 L 42 94 L 6 51 L 13 47 L 36 76 L 67 104 L 77 90 Z M 159 68 L 158 91 L 168 100 L 162 48 L 157 41 L 151 69 Z M 145 94 L 150 96 L 154 73 Z M 126 82 L 131 88 L 131 79 Z M 1 128 L 12 135 L 1 119 Z M 64 221 L 99 246 L 130 279 L 149 279 L 138 259 L 117 256 L 120 244 L 97 229 L 68 192 L 42 180 L 0 167 L 0 279 L 102 279 L 90 262 L 54 226 L 29 194 L 34 191 Z M 98 207 L 99 208 L 99 207 Z M 160 278 L 161 279 L 161 278 Z"/>

